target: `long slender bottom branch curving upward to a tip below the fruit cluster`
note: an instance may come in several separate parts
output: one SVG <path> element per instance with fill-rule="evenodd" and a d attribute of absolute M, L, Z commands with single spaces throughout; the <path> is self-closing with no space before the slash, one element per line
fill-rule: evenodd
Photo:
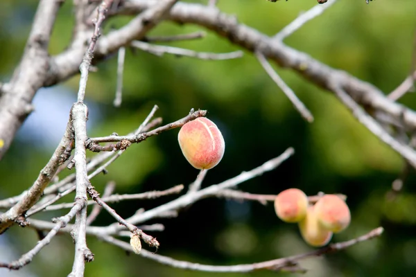
<path fill-rule="evenodd" d="M 311 257 L 319 257 L 327 253 L 333 253 L 341 251 L 348 247 L 352 247 L 354 244 L 359 242 L 365 242 L 366 240 L 371 240 L 372 238 L 379 237 L 383 233 L 383 228 L 376 228 L 365 235 L 361 235 L 358 238 L 352 240 L 347 240 L 345 242 L 338 242 L 334 244 L 329 244 L 327 247 L 311 251 L 309 253 L 303 253 L 295 256 L 289 256 L 286 258 L 279 258 L 275 260 L 268 260 L 265 262 L 255 262 L 252 264 L 246 265 L 201 265 L 194 262 L 186 262 L 182 260 L 175 260 L 166 256 L 158 255 L 151 253 L 146 250 L 141 250 L 140 255 L 144 258 L 149 258 L 150 260 L 155 260 L 163 265 L 168 265 L 171 267 L 176 267 L 180 269 L 190 269 L 195 271 L 207 271 L 207 272 L 250 272 L 257 271 L 261 269 L 267 269 L 271 271 L 282 271 L 288 267 L 298 267 L 297 262 Z M 98 238 L 101 238 L 105 242 L 114 244 L 121 249 L 126 251 L 132 251 L 132 247 L 127 242 L 122 240 L 117 240 L 116 238 L 111 237 L 110 235 L 101 235 Z"/>

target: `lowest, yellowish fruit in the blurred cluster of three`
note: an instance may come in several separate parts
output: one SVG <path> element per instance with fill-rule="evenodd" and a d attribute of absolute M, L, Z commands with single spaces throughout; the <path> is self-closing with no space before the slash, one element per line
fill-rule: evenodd
<path fill-rule="evenodd" d="M 304 241 L 313 247 L 322 247 L 332 238 L 332 232 L 318 222 L 314 206 L 308 207 L 306 217 L 299 222 L 299 229 Z"/>

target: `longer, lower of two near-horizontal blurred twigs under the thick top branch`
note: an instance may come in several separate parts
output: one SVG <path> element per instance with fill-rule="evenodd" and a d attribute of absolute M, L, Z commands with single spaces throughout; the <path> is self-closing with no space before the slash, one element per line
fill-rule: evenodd
<path fill-rule="evenodd" d="M 197 52 L 189 49 L 177 48 L 172 46 L 162 46 L 156 44 L 148 44 L 147 42 L 139 42 L 137 40 L 131 42 L 131 46 L 139 48 L 153 55 L 162 57 L 165 53 L 177 56 L 196 57 L 201 60 L 231 60 L 243 57 L 243 51 L 234 51 L 230 53 L 208 53 Z"/>

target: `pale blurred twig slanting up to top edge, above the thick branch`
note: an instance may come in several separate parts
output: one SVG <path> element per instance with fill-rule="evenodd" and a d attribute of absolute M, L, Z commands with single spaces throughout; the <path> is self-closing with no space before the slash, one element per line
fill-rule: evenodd
<path fill-rule="evenodd" d="M 281 41 L 286 37 L 292 35 L 293 33 L 295 33 L 296 30 L 304 26 L 306 22 L 314 19 L 315 17 L 318 17 L 318 15 L 322 15 L 322 13 L 325 10 L 327 10 L 327 8 L 331 7 L 335 2 L 336 0 L 331 0 L 329 1 L 329 3 L 325 5 L 316 5 L 313 6 L 313 8 L 307 10 L 306 12 L 302 12 L 298 17 L 296 17 L 295 20 L 293 20 L 290 24 L 286 25 L 283 29 L 281 29 L 279 33 L 277 33 L 275 37 L 273 37 L 273 39 Z"/>

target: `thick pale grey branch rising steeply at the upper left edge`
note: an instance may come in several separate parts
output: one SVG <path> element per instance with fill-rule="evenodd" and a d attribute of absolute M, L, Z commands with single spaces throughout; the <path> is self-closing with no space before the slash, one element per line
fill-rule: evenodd
<path fill-rule="evenodd" d="M 23 57 L 12 79 L 3 84 L 0 96 L 0 160 L 24 119 L 31 113 L 37 89 L 43 86 L 49 71 L 49 39 L 55 17 L 63 0 L 41 0 Z M 3 229 L 0 229 L 4 231 Z"/>

